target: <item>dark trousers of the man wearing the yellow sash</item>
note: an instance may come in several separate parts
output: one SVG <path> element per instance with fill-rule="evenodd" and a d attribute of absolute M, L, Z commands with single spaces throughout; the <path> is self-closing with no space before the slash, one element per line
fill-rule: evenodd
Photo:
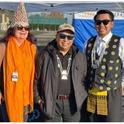
<path fill-rule="evenodd" d="M 122 122 L 121 88 L 108 92 L 108 115 L 88 113 L 90 122 Z"/>

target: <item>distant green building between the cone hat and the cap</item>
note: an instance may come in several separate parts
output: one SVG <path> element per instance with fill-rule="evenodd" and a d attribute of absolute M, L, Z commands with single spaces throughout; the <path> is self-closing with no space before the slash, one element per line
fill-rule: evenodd
<path fill-rule="evenodd" d="M 56 31 L 67 19 L 60 12 L 29 13 L 29 23 L 33 30 Z"/>

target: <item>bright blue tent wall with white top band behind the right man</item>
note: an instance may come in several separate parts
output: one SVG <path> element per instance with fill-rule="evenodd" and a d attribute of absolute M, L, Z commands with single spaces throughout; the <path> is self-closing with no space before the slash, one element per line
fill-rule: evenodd
<path fill-rule="evenodd" d="M 87 40 L 97 34 L 93 17 L 96 12 L 82 12 L 74 14 L 73 25 L 76 31 L 75 44 L 84 51 Z M 124 13 L 113 12 L 115 23 L 112 32 L 124 37 Z"/>

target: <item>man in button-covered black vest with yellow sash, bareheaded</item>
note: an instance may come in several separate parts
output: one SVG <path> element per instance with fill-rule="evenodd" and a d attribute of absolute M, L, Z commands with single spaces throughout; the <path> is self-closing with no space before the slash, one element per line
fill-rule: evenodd
<path fill-rule="evenodd" d="M 113 35 L 114 15 L 99 10 L 94 17 L 98 35 L 89 39 L 87 111 L 91 121 L 121 121 L 121 83 L 124 67 L 124 39 Z"/>

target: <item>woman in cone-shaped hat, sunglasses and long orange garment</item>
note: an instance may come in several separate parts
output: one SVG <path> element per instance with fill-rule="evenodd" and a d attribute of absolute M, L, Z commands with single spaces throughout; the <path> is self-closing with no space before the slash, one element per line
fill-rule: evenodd
<path fill-rule="evenodd" d="M 4 94 L 1 95 L 11 122 L 27 121 L 28 113 L 33 110 L 36 44 L 32 38 L 24 3 L 19 3 L 6 36 L 1 40 L 6 46 Z"/>

